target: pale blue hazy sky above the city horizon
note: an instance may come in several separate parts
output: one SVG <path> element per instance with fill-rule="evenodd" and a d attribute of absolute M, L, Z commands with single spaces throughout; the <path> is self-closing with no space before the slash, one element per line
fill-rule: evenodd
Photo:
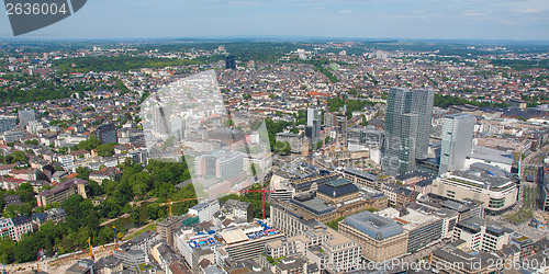
<path fill-rule="evenodd" d="M 0 38 L 14 37 L 5 10 Z M 549 41 L 549 0 L 88 0 L 22 38 Z"/>

